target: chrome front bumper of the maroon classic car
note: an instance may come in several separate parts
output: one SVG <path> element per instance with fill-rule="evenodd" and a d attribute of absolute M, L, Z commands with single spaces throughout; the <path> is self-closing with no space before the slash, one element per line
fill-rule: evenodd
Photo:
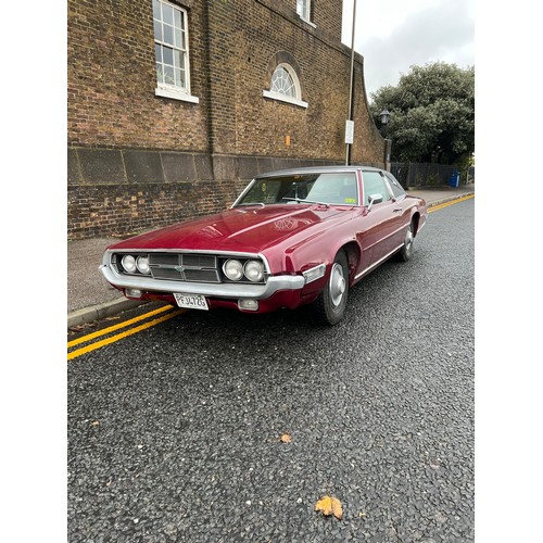
<path fill-rule="evenodd" d="M 187 292 L 189 294 L 203 294 L 213 298 L 253 298 L 263 300 L 275 294 L 278 290 L 300 290 L 305 285 L 301 275 L 281 275 L 268 277 L 265 285 L 248 283 L 204 283 L 180 282 L 161 279 L 155 280 L 143 276 L 117 275 L 106 263 L 98 268 L 108 282 L 124 289 L 139 289 L 152 292 L 171 294 L 173 292 Z"/>

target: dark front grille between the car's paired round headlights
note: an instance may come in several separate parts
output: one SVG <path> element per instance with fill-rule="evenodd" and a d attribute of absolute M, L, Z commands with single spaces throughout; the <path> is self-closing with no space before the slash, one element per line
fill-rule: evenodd
<path fill-rule="evenodd" d="M 150 253 L 154 279 L 220 282 L 217 257 L 206 254 Z"/>

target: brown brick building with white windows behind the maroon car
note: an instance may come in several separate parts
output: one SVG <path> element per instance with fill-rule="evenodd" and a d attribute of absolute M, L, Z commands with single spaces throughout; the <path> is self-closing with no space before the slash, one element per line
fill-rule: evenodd
<path fill-rule="evenodd" d="M 256 173 L 345 163 L 342 0 L 68 0 L 68 239 L 227 207 Z M 351 163 L 382 166 L 355 55 Z"/>

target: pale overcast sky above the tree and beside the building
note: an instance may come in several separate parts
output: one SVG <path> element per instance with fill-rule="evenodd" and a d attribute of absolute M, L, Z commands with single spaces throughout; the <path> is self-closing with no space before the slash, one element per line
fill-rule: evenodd
<path fill-rule="evenodd" d="M 397 85 L 413 64 L 475 65 L 475 0 L 357 0 L 354 49 L 364 56 L 368 100 Z M 353 0 L 343 0 L 342 41 L 351 47 Z"/>

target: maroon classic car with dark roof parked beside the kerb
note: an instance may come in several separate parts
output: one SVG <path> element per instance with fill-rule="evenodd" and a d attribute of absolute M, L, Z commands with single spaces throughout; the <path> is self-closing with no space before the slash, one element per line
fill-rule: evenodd
<path fill-rule="evenodd" d="M 126 298 L 267 313 L 312 304 L 334 325 L 350 287 L 409 260 L 426 202 L 389 173 L 330 166 L 256 176 L 232 206 L 108 248 L 100 269 Z"/>

